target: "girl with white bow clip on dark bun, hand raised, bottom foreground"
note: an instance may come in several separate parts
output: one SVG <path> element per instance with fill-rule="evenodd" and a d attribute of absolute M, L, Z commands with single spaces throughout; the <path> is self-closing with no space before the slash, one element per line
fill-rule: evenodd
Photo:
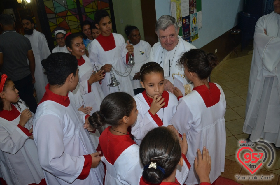
<path fill-rule="evenodd" d="M 180 147 L 181 145 L 181 147 Z M 144 166 L 139 185 L 181 185 L 188 177 L 190 164 L 185 154 L 188 151 L 186 135 L 183 139 L 167 127 L 158 127 L 149 131 L 140 145 L 140 159 Z M 195 159 L 195 169 L 202 183 L 210 185 L 209 173 L 211 157 L 203 148 L 203 159 L 198 149 L 198 160 Z M 187 162 L 188 167 L 183 162 Z M 178 171 L 181 169 L 181 172 Z"/>

